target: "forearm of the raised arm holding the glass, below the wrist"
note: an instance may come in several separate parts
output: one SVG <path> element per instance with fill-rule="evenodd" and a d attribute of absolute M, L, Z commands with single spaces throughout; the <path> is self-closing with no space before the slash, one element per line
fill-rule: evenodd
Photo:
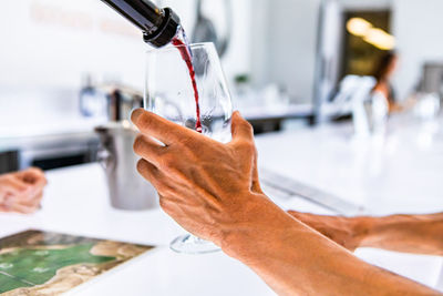
<path fill-rule="evenodd" d="M 280 210 L 260 216 L 228 235 L 223 248 L 280 295 L 439 295 L 358 259 Z"/>

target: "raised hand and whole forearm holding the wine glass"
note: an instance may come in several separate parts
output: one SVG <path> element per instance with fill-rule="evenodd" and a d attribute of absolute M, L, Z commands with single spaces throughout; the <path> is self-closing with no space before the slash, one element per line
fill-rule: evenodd
<path fill-rule="evenodd" d="M 233 116 L 218 143 L 144 110 L 134 151 L 162 208 L 241 261 L 279 295 L 440 295 L 367 264 L 274 204 L 260 190 L 251 126 Z"/>

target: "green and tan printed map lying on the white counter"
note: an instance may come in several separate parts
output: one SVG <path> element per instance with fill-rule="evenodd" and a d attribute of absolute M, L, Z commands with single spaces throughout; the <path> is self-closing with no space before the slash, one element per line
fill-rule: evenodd
<path fill-rule="evenodd" d="M 152 246 L 28 231 L 0 239 L 0 295 L 60 295 Z"/>

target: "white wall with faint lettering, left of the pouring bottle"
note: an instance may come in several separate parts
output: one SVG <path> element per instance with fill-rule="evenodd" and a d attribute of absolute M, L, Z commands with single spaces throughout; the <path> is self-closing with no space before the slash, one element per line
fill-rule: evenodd
<path fill-rule="evenodd" d="M 141 33 L 97 0 L 3 0 L 2 88 L 76 88 L 81 75 L 143 85 Z"/>

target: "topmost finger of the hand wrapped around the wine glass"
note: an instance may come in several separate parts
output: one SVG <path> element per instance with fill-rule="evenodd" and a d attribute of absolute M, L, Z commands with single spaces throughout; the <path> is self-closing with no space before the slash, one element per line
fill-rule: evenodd
<path fill-rule="evenodd" d="M 181 142 L 184 136 L 198 135 L 189 129 L 167 121 L 152 112 L 137 109 L 132 113 L 132 122 L 144 135 L 157 139 L 165 145 Z"/>

